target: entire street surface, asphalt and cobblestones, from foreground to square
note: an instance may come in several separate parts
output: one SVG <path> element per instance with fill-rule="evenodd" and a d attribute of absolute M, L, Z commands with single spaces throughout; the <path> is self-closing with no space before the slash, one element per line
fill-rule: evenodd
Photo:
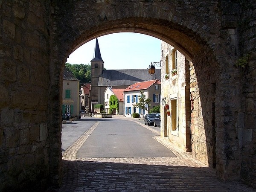
<path fill-rule="evenodd" d="M 63 180 L 59 192 L 253 191 L 222 182 L 215 169 L 160 138 L 143 119 L 82 117 L 62 125 Z"/>

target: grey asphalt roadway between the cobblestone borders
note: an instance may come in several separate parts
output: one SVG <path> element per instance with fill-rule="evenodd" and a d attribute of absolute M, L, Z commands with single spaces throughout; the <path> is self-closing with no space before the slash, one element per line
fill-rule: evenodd
<path fill-rule="evenodd" d="M 175 157 L 172 151 L 152 138 L 156 135 L 136 122 L 101 121 L 76 157 Z"/>

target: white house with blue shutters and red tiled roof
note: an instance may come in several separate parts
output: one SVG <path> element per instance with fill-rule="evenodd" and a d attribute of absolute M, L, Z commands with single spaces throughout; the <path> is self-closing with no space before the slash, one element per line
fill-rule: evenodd
<path fill-rule="evenodd" d="M 137 108 L 135 105 L 139 102 L 140 91 L 145 94 L 145 99 L 150 98 L 151 102 L 146 110 Z M 150 81 L 137 82 L 124 90 L 124 113 L 125 116 L 132 115 L 133 113 L 148 114 L 150 109 L 154 106 L 160 105 L 161 81 L 158 79 Z"/>

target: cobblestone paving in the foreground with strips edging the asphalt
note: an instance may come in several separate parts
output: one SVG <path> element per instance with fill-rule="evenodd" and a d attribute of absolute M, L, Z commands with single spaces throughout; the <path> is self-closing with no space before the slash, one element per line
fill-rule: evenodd
<path fill-rule="evenodd" d="M 131 120 L 131 119 L 130 119 Z M 147 125 L 135 121 L 151 131 Z M 253 192 L 241 182 L 223 182 L 211 169 L 180 151 L 159 135 L 154 139 L 176 157 L 77 159 L 96 122 L 63 155 L 63 180 L 59 192 Z M 159 134 L 159 132 L 158 132 Z"/>

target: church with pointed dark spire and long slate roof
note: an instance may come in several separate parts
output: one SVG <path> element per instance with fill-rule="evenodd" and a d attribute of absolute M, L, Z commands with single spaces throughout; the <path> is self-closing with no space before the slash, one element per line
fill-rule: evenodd
<path fill-rule="evenodd" d="M 113 89 L 126 89 L 131 84 L 140 81 L 154 80 L 154 76 L 148 73 L 148 69 L 123 69 L 123 70 L 104 70 L 98 38 L 96 38 L 93 59 L 91 62 L 91 84 L 89 95 L 82 100 L 83 107 L 86 105 L 89 110 L 93 110 L 94 104 L 104 106 L 104 92 L 107 87 Z M 155 78 L 161 79 L 161 69 L 156 69 Z M 81 87 L 81 95 L 85 95 L 84 87 Z M 85 100 L 86 99 L 86 100 Z"/>

